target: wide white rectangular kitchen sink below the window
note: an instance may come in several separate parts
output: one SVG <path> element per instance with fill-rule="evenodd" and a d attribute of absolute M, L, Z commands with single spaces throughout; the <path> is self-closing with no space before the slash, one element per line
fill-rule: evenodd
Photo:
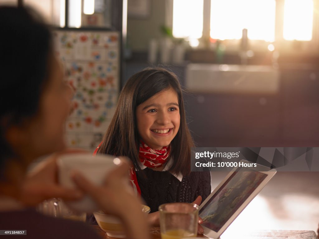
<path fill-rule="evenodd" d="M 199 64 L 187 65 L 185 86 L 203 93 L 266 93 L 279 91 L 279 71 L 271 66 Z"/>

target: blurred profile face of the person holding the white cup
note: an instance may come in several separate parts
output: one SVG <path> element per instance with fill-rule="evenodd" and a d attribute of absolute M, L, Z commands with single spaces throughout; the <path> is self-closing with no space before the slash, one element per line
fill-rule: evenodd
<path fill-rule="evenodd" d="M 12 146 L 25 158 L 49 154 L 65 147 L 64 122 L 70 112 L 72 90 L 63 80 L 63 69 L 50 58 L 48 83 L 40 97 L 38 113 L 16 130 Z M 17 144 L 17 145 L 15 145 Z"/>

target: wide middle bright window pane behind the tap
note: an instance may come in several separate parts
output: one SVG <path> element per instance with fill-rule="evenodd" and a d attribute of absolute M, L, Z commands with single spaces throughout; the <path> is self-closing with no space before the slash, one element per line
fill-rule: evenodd
<path fill-rule="evenodd" d="M 248 29 L 251 40 L 275 40 L 275 0 L 211 0 L 213 39 L 241 39 Z"/>

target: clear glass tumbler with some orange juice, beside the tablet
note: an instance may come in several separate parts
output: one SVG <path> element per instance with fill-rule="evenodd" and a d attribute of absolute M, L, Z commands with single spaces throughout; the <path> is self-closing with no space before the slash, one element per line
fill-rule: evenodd
<path fill-rule="evenodd" d="M 159 206 L 162 239 L 197 236 L 198 206 L 193 203 L 166 203 Z"/>

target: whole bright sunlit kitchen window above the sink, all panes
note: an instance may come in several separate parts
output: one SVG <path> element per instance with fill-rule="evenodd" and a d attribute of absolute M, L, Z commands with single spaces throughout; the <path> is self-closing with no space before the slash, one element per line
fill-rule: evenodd
<path fill-rule="evenodd" d="M 173 36 L 186 38 L 195 47 L 226 40 L 231 49 L 238 46 L 245 28 L 250 47 L 257 50 L 261 46 L 267 50 L 275 42 L 278 49 L 291 51 L 297 41 L 299 52 L 319 48 L 319 0 L 167 1 L 172 8 Z"/>

